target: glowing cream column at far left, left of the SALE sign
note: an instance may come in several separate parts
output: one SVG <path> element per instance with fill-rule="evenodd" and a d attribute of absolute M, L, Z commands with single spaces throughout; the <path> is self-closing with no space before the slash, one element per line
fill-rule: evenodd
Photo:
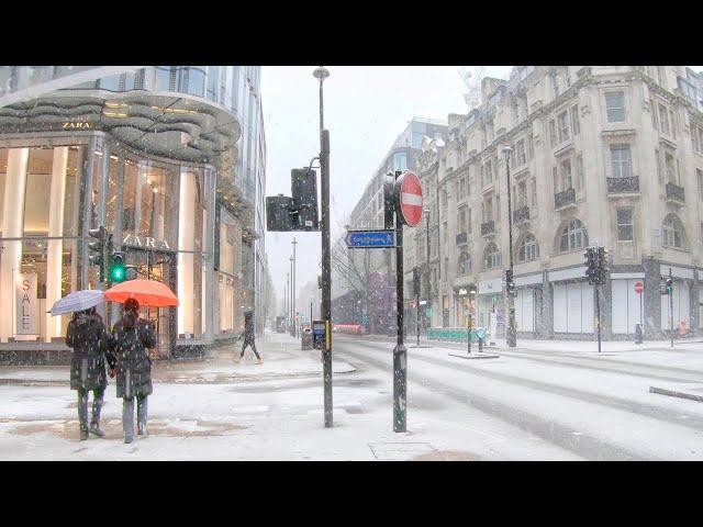
<path fill-rule="evenodd" d="M 20 238 L 24 224 L 24 194 L 26 190 L 26 167 L 29 148 L 10 148 L 4 183 L 4 214 L 2 236 Z M 20 272 L 22 242 L 3 242 L 2 265 L 0 267 L 0 341 L 7 343 L 14 335 L 14 276 Z"/>

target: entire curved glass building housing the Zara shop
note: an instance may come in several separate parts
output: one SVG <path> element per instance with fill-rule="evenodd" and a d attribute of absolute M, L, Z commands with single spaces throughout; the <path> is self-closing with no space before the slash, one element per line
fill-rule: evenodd
<path fill-rule="evenodd" d="M 178 294 L 178 307 L 143 309 L 160 356 L 234 336 L 265 261 L 260 68 L 77 69 L 0 68 L 2 357 L 65 352 L 68 315 L 46 312 L 105 287 L 88 260 L 99 225 L 138 278 Z"/>

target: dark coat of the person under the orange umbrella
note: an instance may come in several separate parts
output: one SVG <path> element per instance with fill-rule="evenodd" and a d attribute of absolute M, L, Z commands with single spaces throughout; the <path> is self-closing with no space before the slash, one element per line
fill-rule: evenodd
<path fill-rule="evenodd" d="M 152 393 L 152 359 L 146 348 L 155 346 L 156 335 L 148 321 L 137 318 L 133 327 L 125 327 L 122 318 L 114 325 L 111 349 L 116 360 L 118 397 Z"/>

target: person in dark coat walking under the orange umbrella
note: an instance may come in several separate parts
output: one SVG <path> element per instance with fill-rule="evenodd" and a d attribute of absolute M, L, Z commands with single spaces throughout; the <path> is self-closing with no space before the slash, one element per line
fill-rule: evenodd
<path fill-rule="evenodd" d="M 140 303 L 127 299 L 122 318 L 112 328 L 111 348 L 118 374 L 118 397 L 122 399 L 124 442 L 134 439 L 134 399 L 137 434 L 146 436 L 147 397 L 152 394 L 152 359 L 148 350 L 156 346 L 154 328 L 140 318 Z"/>

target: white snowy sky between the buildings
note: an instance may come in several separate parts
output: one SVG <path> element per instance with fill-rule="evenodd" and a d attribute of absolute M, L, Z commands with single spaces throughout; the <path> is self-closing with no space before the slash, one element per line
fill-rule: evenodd
<path fill-rule="evenodd" d="M 266 131 L 266 195 L 290 195 L 290 169 L 308 166 L 320 152 L 315 66 L 265 66 L 261 101 Z M 324 120 L 331 142 L 332 239 L 360 198 L 398 135 L 413 116 L 446 121 L 466 113 L 466 86 L 454 66 L 327 66 Z M 510 66 L 486 76 L 506 78 Z M 266 233 L 269 272 L 279 305 L 295 236 L 297 291 L 321 273 L 319 233 Z M 333 285 L 334 288 L 334 285 Z"/>

